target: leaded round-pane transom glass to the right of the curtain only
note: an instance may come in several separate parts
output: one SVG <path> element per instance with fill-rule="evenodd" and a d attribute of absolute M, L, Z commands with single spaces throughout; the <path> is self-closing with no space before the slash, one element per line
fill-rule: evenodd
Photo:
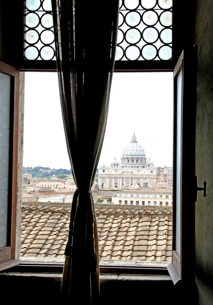
<path fill-rule="evenodd" d="M 170 60 L 172 1 L 125 0 L 120 6 L 116 60 Z M 134 48 L 133 48 L 134 46 Z"/>

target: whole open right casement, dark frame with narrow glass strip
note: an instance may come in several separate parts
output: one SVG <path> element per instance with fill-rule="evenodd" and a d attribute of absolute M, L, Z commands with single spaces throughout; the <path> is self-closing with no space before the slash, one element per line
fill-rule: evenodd
<path fill-rule="evenodd" d="M 195 120 L 197 47 L 186 48 L 174 68 L 173 245 L 168 265 L 173 283 L 194 282 Z"/>

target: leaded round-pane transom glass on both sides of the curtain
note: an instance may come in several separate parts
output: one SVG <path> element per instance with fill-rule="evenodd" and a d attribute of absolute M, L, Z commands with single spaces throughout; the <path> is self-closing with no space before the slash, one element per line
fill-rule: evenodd
<path fill-rule="evenodd" d="M 26 0 L 24 17 L 24 58 L 55 59 L 51 0 Z M 116 60 L 171 59 L 172 0 L 121 0 L 118 26 Z"/>

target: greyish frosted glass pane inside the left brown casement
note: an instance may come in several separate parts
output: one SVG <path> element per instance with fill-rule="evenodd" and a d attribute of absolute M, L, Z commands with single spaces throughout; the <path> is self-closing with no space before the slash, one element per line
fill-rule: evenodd
<path fill-rule="evenodd" d="M 0 248 L 7 246 L 10 76 L 0 73 Z"/>

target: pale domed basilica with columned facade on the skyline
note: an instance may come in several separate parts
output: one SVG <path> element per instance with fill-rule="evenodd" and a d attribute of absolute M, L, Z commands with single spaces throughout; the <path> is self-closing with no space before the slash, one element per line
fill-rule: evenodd
<path fill-rule="evenodd" d="M 150 159 L 147 160 L 145 150 L 137 142 L 135 134 L 123 150 L 121 163 L 115 158 L 110 166 L 102 165 L 98 169 L 99 189 L 155 188 L 162 183 L 172 184 L 172 168 L 159 168 Z"/>

